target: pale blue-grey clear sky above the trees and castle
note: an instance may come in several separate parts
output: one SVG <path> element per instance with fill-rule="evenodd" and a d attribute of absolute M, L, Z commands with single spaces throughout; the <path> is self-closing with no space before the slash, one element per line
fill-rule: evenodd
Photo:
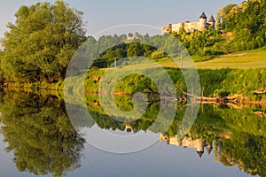
<path fill-rule="evenodd" d="M 43 0 L 0 0 L 0 37 L 6 31 L 6 23 L 14 21 L 14 13 L 23 4 L 35 4 Z M 53 3 L 54 0 L 47 0 Z M 70 7 L 84 12 L 88 35 L 123 24 L 145 24 L 162 27 L 168 23 L 199 20 L 200 13 L 215 16 L 219 7 L 240 4 L 242 0 L 66 0 Z M 132 31 L 135 32 L 135 31 Z"/>

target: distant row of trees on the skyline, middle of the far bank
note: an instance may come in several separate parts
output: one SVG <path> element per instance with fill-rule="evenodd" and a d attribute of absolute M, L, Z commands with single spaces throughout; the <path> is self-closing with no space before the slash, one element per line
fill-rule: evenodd
<path fill-rule="evenodd" d="M 85 56 L 96 58 L 92 66 L 104 68 L 113 65 L 114 60 L 117 60 L 118 65 L 121 65 L 127 63 L 129 58 L 134 59 L 134 57 L 157 59 L 178 55 L 178 50 L 182 49 L 178 46 L 175 49 L 174 43 L 173 46 L 167 45 L 166 37 L 161 35 L 149 36 L 148 34 L 139 35 L 136 33 L 136 38 L 130 40 L 128 36 L 130 36 L 130 33 L 129 35 L 103 35 L 98 41 L 90 37 L 89 42 L 85 44 Z M 118 44 L 113 46 L 110 43 Z M 167 50 L 168 53 L 163 50 Z M 95 53 L 98 53 L 98 55 L 93 55 Z"/>

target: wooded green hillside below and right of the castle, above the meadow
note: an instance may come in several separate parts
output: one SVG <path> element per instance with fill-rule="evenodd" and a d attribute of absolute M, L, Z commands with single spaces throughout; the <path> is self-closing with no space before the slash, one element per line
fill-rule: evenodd
<path fill-rule="evenodd" d="M 193 33 L 181 31 L 172 35 L 184 44 L 192 56 L 204 57 L 201 61 L 223 53 L 258 49 L 266 43 L 265 5 L 264 0 L 228 4 L 216 14 L 217 30 Z M 232 38 L 226 32 L 232 32 Z"/>

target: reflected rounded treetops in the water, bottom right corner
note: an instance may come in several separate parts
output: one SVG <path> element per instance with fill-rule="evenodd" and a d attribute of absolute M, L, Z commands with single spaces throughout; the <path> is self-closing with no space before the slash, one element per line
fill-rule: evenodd
<path fill-rule="evenodd" d="M 215 156 L 223 165 L 237 165 L 246 173 L 266 176 L 266 139 L 248 134 L 233 135 L 218 144 Z"/>

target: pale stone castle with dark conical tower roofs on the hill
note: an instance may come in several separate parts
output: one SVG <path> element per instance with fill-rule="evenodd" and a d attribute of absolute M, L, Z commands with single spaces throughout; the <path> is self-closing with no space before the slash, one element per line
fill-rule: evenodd
<path fill-rule="evenodd" d="M 181 29 L 184 29 L 187 33 L 192 33 L 196 31 L 204 31 L 209 28 L 215 28 L 215 18 L 211 16 L 207 21 L 205 12 L 202 12 L 200 15 L 200 21 L 169 24 L 167 27 L 161 28 L 161 34 L 170 34 L 172 32 L 179 34 Z"/>

